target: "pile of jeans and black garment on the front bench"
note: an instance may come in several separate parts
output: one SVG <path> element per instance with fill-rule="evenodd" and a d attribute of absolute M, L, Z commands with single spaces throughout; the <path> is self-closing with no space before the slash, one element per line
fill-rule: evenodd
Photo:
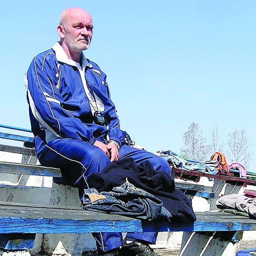
<path fill-rule="evenodd" d="M 149 161 L 140 165 L 132 158 L 111 162 L 102 172 L 88 176 L 87 182 L 93 189 L 84 190 L 85 210 L 141 220 L 196 220 L 191 199 L 175 187 L 170 174 L 154 170 Z"/>

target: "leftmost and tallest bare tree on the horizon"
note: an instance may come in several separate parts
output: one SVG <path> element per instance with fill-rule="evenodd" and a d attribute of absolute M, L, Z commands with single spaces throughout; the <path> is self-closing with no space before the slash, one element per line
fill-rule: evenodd
<path fill-rule="evenodd" d="M 192 122 L 183 135 L 184 148 L 180 151 L 191 160 L 201 161 L 210 152 L 210 146 L 206 144 L 206 138 L 202 136 L 202 130 L 199 130 L 198 124 Z"/>

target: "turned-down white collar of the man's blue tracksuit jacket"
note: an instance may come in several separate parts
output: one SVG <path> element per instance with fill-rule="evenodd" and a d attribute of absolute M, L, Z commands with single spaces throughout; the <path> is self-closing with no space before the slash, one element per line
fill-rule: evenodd
<path fill-rule="evenodd" d="M 70 66 L 77 66 L 76 62 L 74 60 L 71 60 L 68 58 L 66 52 L 64 52 L 63 48 L 61 47 L 59 42 L 56 42 L 56 44 L 54 44 L 54 46 L 52 46 L 52 49 L 55 52 L 55 56 L 56 59 L 58 60 L 58 62 L 62 62 L 65 64 L 68 64 Z M 82 68 L 84 69 L 84 67 L 88 66 L 89 68 L 92 68 L 92 64 L 90 64 L 88 62 L 88 60 L 86 60 L 84 54 L 81 54 L 81 58 L 82 58 Z"/>

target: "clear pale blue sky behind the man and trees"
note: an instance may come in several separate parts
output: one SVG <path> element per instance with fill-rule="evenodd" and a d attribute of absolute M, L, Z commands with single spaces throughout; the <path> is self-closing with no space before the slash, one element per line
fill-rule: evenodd
<path fill-rule="evenodd" d="M 0 3 L 0 123 L 30 128 L 24 74 L 57 40 L 60 12 L 85 8 L 87 58 L 107 74 L 121 128 L 148 151 L 180 153 L 192 122 L 245 130 L 256 156 L 256 1 L 14 0 Z M 256 164 L 252 162 L 251 168 Z"/>

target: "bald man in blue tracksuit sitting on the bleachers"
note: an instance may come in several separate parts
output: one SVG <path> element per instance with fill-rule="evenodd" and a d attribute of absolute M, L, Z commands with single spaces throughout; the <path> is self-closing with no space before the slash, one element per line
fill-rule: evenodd
<path fill-rule="evenodd" d="M 57 27 L 60 42 L 38 54 L 25 77 L 36 153 L 44 166 L 60 168 L 79 190 L 86 178 L 110 162 L 132 157 L 136 164 L 150 160 L 155 170 L 170 173 L 168 163 L 144 150 L 126 145 L 106 75 L 85 58 L 92 39 L 92 18 L 80 8 L 68 8 Z M 157 233 L 97 233 L 98 254 L 117 255 L 120 246 L 140 256 L 156 255 L 148 246 Z"/>

